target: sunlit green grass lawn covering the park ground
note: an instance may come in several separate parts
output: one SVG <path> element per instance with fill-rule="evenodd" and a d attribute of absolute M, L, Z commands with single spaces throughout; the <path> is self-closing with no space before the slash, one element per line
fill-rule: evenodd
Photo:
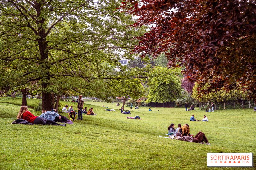
<path fill-rule="evenodd" d="M 28 99 L 33 107 L 37 99 Z M 198 108 L 133 109 L 142 120 L 126 119 L 115 103 L 85 101 L 96 116 L 83 116 L 66 127 L 11 124 L 16 120 L 21 98 L 0 98 L 0 169 L 220 169 L 208 168 L 207 152 L 253 152 L 256 143 L 256 115 L 252 109 L 230 109 L 207 113 Z M 65 104 L 77 103 L 61 101 Z M 108 106 L 117 112 L 104 111 Z M 125 108 L 129 110 L 128 107 Z M 32 114 L 40 112 L 29 108 Z M 139 110 L 139 111 L 138 111 Z M 159 111 L 158 111 L 159 110 Z M 67 116 L 67 114 L 62 114 Z M 212 146 L 161 138 L 168 126 L 188 123 L 190 133 L 202 131 Z M 256 159 L 254 156 L 254 167 Z M 254 168 L 221 168 L 254 169 Z"/>

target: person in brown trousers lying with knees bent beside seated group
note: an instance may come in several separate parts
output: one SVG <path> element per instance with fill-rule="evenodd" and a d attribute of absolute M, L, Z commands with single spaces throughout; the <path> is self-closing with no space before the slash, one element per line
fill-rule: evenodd
<path fill-rule="evenodd" d="M 181 141 L 187 141 L 187 142 L 194 142 L 194 143 L 201 143 L 206 145 L 211 145 L 208 142 L 208 139 L 206 138 L 205 134 L 203 132 L 198 132 L 195 137 L 190 136 L 183 136 L 180 132 L 176 133 L 176 139 Z M 206 143 L 204 143 L 204 142 Z"/>

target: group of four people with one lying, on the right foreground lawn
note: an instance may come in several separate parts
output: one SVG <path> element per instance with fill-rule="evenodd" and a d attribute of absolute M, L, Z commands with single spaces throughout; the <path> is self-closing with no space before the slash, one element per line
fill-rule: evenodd
<path fill-rule="evenodd" d="M 175 134 L 175 139 L 177 140 L 211 145 L 203 132 L 198 132 L 195 136 L 191 135 L 188 124 L 184 124 L 182 127 L 181 124 L 178 124 L 178 128 L 174 129 L 174 124 L 172 123 L 168 127 L 168 134 Z M 171 136 L 169 137 L 171 138 Z"/>

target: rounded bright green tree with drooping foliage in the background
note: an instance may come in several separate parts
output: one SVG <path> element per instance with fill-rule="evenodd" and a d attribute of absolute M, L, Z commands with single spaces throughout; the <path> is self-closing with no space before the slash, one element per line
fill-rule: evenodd
<path fill-rule="evenodd" d="M 156 67 L 152 73 L 153 77 L 149 78 L 150 91 L 146 102 L 165 103 L 180 98 L 181 81 L 176 76 L 178 72 L 179 69 Z"/>

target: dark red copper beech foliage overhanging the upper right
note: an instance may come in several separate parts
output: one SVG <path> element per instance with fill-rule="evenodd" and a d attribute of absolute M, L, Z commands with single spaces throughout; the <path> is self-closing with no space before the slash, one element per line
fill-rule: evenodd
<path fill-rule="evenodd" d="M 139 16 L 133 27 L 153 24 L 134 53 L 157 58 L 199 84 L 200 94 L 242 89 L 256 98 L 255 0 L 126 0 L 124 11 Z M 206 89 L 201 89 L 207 85 Z"/>

